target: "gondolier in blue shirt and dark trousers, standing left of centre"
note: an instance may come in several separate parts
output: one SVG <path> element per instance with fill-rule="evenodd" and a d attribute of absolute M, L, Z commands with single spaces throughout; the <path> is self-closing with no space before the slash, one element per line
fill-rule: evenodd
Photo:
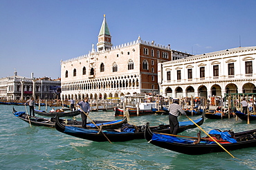
<path fill-rule="evenodd" d="M 87 114 L 89 114 L 90 111 L 90 103 L 88 102 L 88 98 L 85 97 L 84 100 L 80 101 L 80 103 L 77 103 L 77 107 L 80 107 L 82 109 L 82 128 L 86 129 Z"/>

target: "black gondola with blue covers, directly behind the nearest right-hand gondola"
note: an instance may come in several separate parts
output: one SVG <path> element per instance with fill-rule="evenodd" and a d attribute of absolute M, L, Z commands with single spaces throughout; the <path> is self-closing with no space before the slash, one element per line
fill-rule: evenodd
<path fill-rule="evenodd" d="M 197 120 L 194 120 L 198 125 L 203 124 L 203 117 Z M 180 127 L 178 133 L 185 131 L 186 129 L 194 128 L 196 125 L 191 121 L 180 122 Z M 100 127 L 99 127 L 100 128 Z M 111 142 L 123 142 L 127 140 L 135 140 L 135 139 L 143 139 L 144 138 L 144 127 L 143 126 L 135 126 L 135 125 L 125 125 L 120 129 L 82 129 L 78 127 L 67 127 L 56 119 L 55 129 L 64 134 L 68 134 L 71 136 L 75 136 L 77 138 L 82 138 L 85 140 L 93 140 L 96 142 L 105 142 L 108 141 L 107 138 Z M 101 128 L 100 128 L 101 129 Z M 169 125 L 159 125 L 155 127 L 150 127 L 152 131 L 157 131 L 161 133 L 170 133 Z M 102 134 L 104 133 L 104 134 Z M 106 138 L 107 136 L 107 138 Z"/>

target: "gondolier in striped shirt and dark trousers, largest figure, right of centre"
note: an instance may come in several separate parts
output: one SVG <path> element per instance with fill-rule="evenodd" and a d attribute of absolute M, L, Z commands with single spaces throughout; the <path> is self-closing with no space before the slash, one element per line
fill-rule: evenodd
<path fill-rule="evenodd" d="M 170 134 L 177 134 L 179 129 L 179 114 L 187 115 L 182 107 L 179 105 L 179 100 L 174 100 L 172 104 L 170 104 L 169 108 L 169 123 L 170 123 Z"/>

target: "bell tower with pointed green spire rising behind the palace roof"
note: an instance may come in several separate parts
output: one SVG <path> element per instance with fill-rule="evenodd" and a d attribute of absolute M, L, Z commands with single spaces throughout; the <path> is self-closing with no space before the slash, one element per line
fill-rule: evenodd
<path fill-rule="evenodd" d="M 106 15 L 104 14 L 104 19 L 100 28 L 100 33 L 98 35 L 97 51 L 110 50 L 112 47 L 111 35 L 109 32 L 109 27 L 107 26 Z"/>

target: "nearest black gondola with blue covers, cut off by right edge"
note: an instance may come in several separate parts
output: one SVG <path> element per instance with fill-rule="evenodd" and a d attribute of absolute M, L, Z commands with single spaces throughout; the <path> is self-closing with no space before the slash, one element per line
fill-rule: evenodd
<path fill-rule="evenodd" d="M 211 136 L 214 136 L 216 139 L 219 138 L 218 136 L 223 138 L 225 136 L 231 136 L 231 138 L 225 138 L 226 140 L 223 140 L 223 138 L 219 138 L 219 140 L 217 139 L 217 142 L 219 142 L 228 151 L 243 149 L 246 147 L 256 147 L 256 129 L 243 131 L 236 134 L 232 134 L 230 131 L 219 131 L 219 133 L 214 135 L 212 134 Z M 152 130 L 149 128 L 149 123 L 145 125 L 145 138 L 151 144 L 158 147 L 179 153 L 185 153 L 188 155 L 201 155 L 205 153 L 224 151 L 216 142 L 213 142 L 213 140 L 210 138 L 178 138 L 168 134 L 157 134 L 152 132 Z"/>

